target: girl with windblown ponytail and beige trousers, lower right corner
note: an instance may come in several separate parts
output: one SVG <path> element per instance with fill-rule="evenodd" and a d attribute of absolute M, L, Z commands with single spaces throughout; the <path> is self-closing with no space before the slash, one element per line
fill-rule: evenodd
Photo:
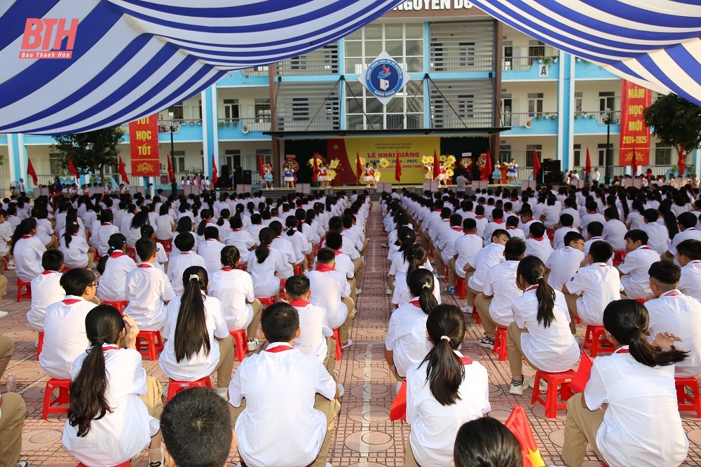
<path fill-rule="evenodd" d="M 604 311 L 606 338 L 616 351 L 594 359 L 584 393 L 567 401 L 562 457 L 580 467 L 589 444 L 611 467 L 679 466 L 689 442 L 679 417 L 674 363 L 686 355 L 671 332 L 648 344 L 648 312 L 634 300 Z"/>

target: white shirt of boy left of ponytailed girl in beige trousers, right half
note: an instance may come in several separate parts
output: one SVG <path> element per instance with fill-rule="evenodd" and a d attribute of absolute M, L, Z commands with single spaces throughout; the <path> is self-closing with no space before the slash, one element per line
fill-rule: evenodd
<path fill-rule="evenodd" d="M 523 292 L 516 286 L 517 261 L 505 261 L 486 270 L 482 294 L 494 296 L 489 305 L 489 316 L 494 323 L 508 326 L 514 322 L 514 312 L 511 302 L 521 297 Z"/>

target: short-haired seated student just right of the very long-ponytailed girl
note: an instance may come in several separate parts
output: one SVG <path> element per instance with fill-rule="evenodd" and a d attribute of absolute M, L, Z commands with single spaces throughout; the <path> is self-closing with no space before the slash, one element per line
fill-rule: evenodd
<path fill-rule="evenodd" d="M 263 304 L 255 297 L 250 273 L 238 269 L 238 248 L 225 246 L 220 259 L 222 269 L 210 276 L 209 294 L 222 302 L 226 327 L 230 331 L 245 329 L 248 350 L 255 351 Z"/>

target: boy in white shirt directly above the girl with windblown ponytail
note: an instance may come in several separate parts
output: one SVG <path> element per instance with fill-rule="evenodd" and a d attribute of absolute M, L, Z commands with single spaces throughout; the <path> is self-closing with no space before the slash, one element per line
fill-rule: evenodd
<path fill-rule="evenodd" d="M 633 229 L 625 234 L 625 259 L 618 265 L 621 295 L 631 299 L 646 299 L 651 294 L 648 269 L 660 260 L 658 252 L 648 247 L 648 234 Z"/>

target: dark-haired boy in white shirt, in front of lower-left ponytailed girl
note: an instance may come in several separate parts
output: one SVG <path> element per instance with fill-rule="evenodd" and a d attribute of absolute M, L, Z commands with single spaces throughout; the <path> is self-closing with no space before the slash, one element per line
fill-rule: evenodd
<path fill-rule="evenodd" d="M 60 285 L 66 291 L 66 298 L 46 307 L 39 365 L 52 378 L 72 379 L 76 357 L 90 345 L 86 316 L 96 306 L 92 300 L 97 282 L 92 271 L 79 268 L 64 273 Z"/>

